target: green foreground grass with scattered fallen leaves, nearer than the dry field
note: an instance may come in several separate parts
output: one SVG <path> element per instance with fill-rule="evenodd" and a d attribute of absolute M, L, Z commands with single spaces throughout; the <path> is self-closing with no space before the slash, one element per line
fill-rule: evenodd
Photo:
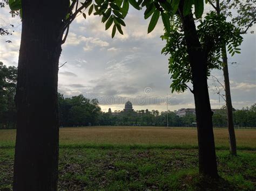
<path fill-rule="evenodd" d="M 61 148 L 61 190 L 198 190 L 203 188 L 255 189 L 256 152 L 239 151 L 232 157 L 218 150 L 218 181 L 198 175 L 195 149 Z M 0 151 L 0 189 L 11 188 L 13 148 Z"/>

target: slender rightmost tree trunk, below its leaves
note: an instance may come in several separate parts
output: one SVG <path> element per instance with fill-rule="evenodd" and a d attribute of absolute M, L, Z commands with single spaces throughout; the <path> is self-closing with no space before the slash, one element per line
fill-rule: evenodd
<path fill-rule="evenodd" d="M 228 135 L 230 142 L 230 153 L 237 155 L 237 142 L 235 140 L 235 131 L 234 131 L 234 122 L 233 122 L 233 107 L 231 101 L 231 92 L 230 92 L 230 77 L 228 76 L 228 66 L 227 66 L 227 51 L 226 47 L 222 48 L 223 56 L 223 75 L 225 82 L 225 95 L 226 95 L 226 108 L 227 108 L 227 126 L 228 126 Z"/>

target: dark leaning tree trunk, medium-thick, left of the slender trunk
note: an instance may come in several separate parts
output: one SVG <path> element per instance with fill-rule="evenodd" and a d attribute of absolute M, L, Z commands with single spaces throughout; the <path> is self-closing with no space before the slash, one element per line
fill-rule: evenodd
<path fill-rule="evenodd" d="M 182 10 L 182 9 L 181 9 Z M 188 57 L 192 69 L 194 102 L 196 105 L 199 173 L 218 178 L 212 125 L 212 110 L 207 85 L 207 54 L 201 47 L 193 15 L 183 17 Z"/>

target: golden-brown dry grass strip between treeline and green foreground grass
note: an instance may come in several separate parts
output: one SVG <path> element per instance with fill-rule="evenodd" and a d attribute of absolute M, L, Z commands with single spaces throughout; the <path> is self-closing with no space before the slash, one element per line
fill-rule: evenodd
<path fill-rule="evenodd" d="M 0 130 L 0 146 L 15 144 L 16 130 Z M 239 148 L 256 148 L 256 130 L 236 130 Z M 196 147 L 196 128 L 163 128 L 131 126 L 94 126 L 85 128 L 61 128 L 62 145 L 146 145 Z M 214 129 L 215 145 L 228 147 L 227 129 Z"/>

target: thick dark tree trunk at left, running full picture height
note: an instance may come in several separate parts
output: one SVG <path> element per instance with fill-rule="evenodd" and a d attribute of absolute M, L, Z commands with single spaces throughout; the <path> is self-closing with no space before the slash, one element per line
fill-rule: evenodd
<path fill-rule="evenodd" d="M 57 84 L 64 2 L 22 0 L 14 190 L 57 190 Z"/>

